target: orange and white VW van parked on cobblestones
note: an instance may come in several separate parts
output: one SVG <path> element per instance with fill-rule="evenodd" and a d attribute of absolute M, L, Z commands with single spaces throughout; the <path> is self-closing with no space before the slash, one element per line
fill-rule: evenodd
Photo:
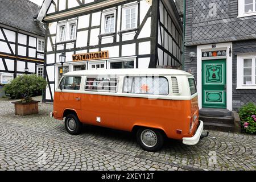
<path fill-rule="evenodd" d="M 193 76 L 176 69 L 105 69 L 65 73 L 55 90 L 55 119 L 69 134 L 82 124 L 135 131 L 144 150 L 156 151 L 164 137 L 199 142 L 197 90 Z"/>

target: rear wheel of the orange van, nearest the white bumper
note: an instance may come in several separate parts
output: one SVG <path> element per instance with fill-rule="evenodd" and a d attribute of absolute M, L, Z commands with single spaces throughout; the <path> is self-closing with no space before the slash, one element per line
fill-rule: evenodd
<path fill-rule="evenodd" d="M 150 135 L 153 141 L 147 140 L 147 138 L 143 140 L 143 137 L 146 137 L 145 135 Z M 137 142 L 144 150 L 155 152 L 163 147 L 164 135 L 160 130 L 141 127 L 137 130 Z"/>

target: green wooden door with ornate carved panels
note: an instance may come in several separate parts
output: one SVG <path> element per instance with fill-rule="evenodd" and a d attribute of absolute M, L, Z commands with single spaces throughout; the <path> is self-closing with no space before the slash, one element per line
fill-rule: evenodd
<path fill-rule="evenodd" d="M 203 107 L 226 108 L 225 59 L 203 61 L 202 96 Z"/>

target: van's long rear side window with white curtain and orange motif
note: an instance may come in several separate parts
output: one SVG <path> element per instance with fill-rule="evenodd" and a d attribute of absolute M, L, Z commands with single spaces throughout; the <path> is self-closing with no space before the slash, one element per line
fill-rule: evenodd
<path fill-rule="evenodd" d="M 168 80 L 165 77 L 125 77 L 124 93 L 168 95 Z"/>

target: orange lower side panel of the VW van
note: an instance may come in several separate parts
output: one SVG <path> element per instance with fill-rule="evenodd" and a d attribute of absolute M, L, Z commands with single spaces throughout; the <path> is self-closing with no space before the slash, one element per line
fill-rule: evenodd
<path fill-rule="evenodd" d="M 75 100 L 80 97 L 81 100 Z M 74 98 L 74 99 L 73 99 Z M 192 137 L 189 133 L 192 105 L 195 101 L 175 101 L 138 97 L 105 96 L 55 92 L 53 111 L 56 119 L 63 119 L 65 109 L 76 111 L 80 121 L 89 125 L 131 131 L 134 126 L 163 130 L 168 138 Z M 193 103 L 193 104 L 192 104 Z M 101 122 L 96 118 L 100 117 Z M 176 130 L 182 130 L 177 134 Z"/>

